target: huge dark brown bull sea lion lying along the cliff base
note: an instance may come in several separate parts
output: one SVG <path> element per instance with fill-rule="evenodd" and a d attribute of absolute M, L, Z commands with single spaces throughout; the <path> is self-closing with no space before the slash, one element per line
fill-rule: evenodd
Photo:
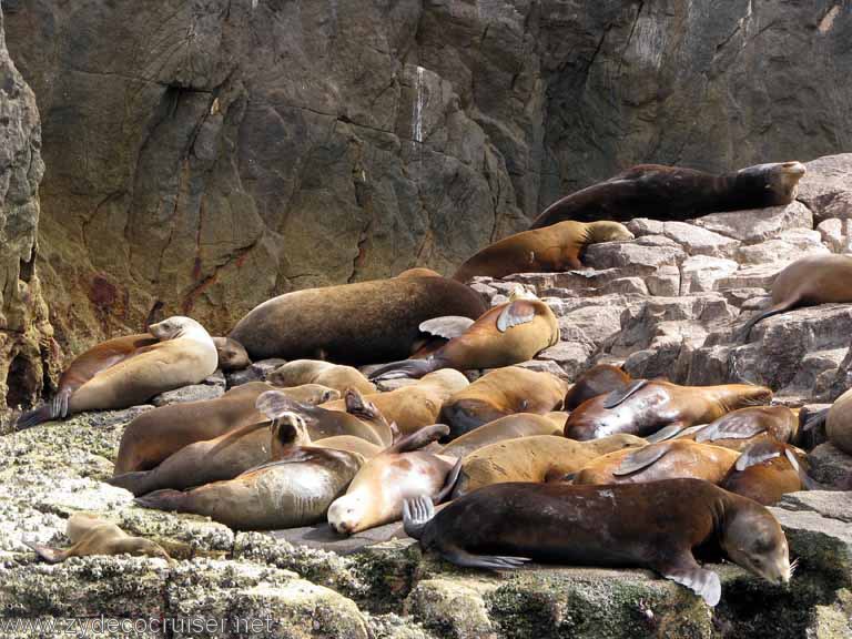
<path fill-rule="evenodd" d="M 407 357 L 419 325 L 442 315 L 476 320 L 485 302 L 446 277 L 392 277 L 286 293 L 255 306 L 230 337 L 253 359 L 313 357 L 376 364 Z"/>

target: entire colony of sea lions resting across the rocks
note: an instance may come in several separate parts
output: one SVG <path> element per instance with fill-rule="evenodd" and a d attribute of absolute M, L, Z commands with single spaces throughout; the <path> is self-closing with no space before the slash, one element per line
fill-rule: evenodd
<path fill-rule="evenodd" d="M 723 175 L 636 166 L 548 206 L 530 231 L 484 248 L 454 278 L 417 267 L 274 297 L 226 337 L 175 316 L 99 344 L 18 426 L 140 404 L 217 367 L 281 357 L 290 362 L 266 383 L 136 417 L 111 483 L 141 506 L 234 529 L 327 520 L 346 535 L 403 519 L 424 549 L 460 566 L 647 567 L 714 606 L 719 578 L 692 555 L 704 542 L 770 581 L 790 580 L 784 534 L 762 504 L 812 484 L 794 446 L 798 412 L 769 406 L 772 392 L 759 386 L 678 386 L 631 379 L 611 365 L 570 384 L 515 366 L 559 341 L 556 317 L 523 290 L 486 308 L 467 282 L 581 268 L 589 244 L 631 239 L 619 222 L 632 217 L 789 203 L 803 174 L 798 162 Z M 797 306 L 852 303 L 849 273 L 848 256 L 792 264 L 778 277 L 773 306 L 741 334 Z M 381 367 L 367 377 L 355 367 L 364 365 Z M 490 371 L 473 384 L 463 375 L 483 369 Z M 410 381 L 392 392 L 376 386 L 403 377 Z M 849 404 L 842 397 L 805 428 L 826 422 L 829 436 L 852 450 Z M 72 548 L 38 552 L 52 561 L 165 555 L 114 526 L 69 527 Z"/>

